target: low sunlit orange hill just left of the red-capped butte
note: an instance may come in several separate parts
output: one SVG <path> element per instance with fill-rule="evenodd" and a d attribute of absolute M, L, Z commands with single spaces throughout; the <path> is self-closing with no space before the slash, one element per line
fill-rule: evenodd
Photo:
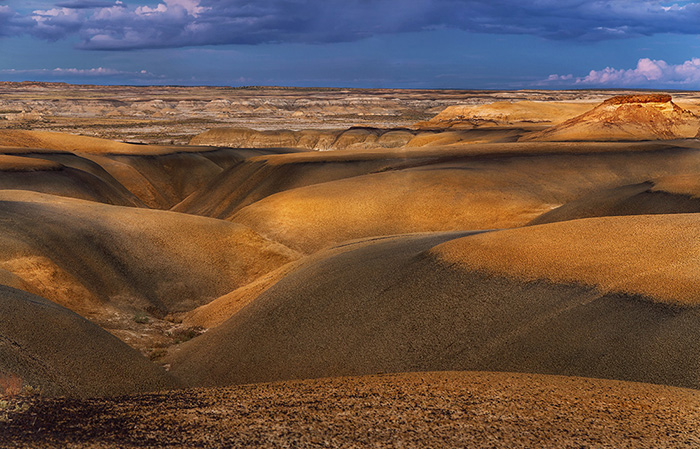
<path fill-rule="evenodd" d="M 546 126 L 559 124 L 590 109 L 590 103 L 499 101 L 478 106 L 448 106 L 418 129 L 471 129 L 489 126 Z"/>

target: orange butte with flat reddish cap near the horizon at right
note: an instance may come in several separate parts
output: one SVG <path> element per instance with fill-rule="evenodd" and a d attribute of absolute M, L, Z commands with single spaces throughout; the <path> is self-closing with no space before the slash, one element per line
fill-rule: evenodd
<path fill-rule="evenodd" d="M 700 117 L 676 105 L 670 95 L 626 95 L 592 111 L 523 136 L 522 141 L 629 141 L 695 138 Z"/>

